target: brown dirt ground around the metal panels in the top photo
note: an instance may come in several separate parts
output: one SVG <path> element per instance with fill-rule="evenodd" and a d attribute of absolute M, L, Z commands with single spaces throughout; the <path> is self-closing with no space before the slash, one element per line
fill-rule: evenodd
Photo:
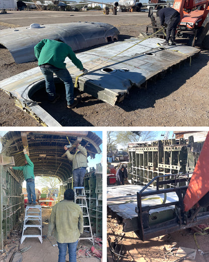
<path fill-rule="evenodd" d="M 136 37 L 150 24 L 147 13 L 21 11 L 0 15 L 0 29 L 77 21 L 105 22 L 120 31 L 119 40 Z M 3 31 L 0 30 L 0 34 Z M 37 62 L 17 64 L 7 49 L 0 48 L 1 80 L 37 67 Z M 208 126 L 209 51 L 201 50 L 191 66 L 186 62 L 173 69 L 147 89 L 133 88 L 124 101 L 112 107 L 88 94 L 79 94 L 80 102 L 72 110 L 63 99 L 55 106 L 43 106 L 63 126 Z M 15 106 L 13 99 L 0 90 L 0 126 L 38 126 L 32 117 Z"/>

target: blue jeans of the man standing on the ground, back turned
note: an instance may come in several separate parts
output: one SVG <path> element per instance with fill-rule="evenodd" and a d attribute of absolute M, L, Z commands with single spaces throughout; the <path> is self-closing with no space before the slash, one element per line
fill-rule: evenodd
<path fill-rule="evenodd" d="M 69 253 L 69 262 L 76 262 L 76 248 L 78 244 L 78 240 L 72 243 L 59 243 L 57 242 L 59 247 L 59 259 L 58 262 L 65 262 L 65 256 L 68 246 Z"/>

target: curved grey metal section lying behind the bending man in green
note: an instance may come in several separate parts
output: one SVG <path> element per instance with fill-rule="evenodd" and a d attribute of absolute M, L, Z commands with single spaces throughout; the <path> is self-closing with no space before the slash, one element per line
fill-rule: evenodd
<path fill-rule="evenodd" d="M 116 27 L 106 23 L 76 22 L 4 29 L 0 43 L 11 52 L 16 63 L 23 63 L 36 60 L 34 46 L 44 38 L 59 38 L 76 51 L 118 40 L 118 34 Z"/>

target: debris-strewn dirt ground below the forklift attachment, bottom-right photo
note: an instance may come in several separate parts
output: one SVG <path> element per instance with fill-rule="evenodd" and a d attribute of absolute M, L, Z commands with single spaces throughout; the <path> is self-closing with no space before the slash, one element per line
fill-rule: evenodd
<path fill-rule="evenodd" d="M 160 237 L 152 238 L 149 241 L 141 241 L 134 232 L 123 232 L 123 227 L 116 219 L 108 216 L 108 240 L 111 245 L 113 244 L 116 253 L 121 250 L 121 257 L 119 261 L 135 261 L 135 262 L 174 262 L 179 259 L 176 256 L 177 249 L 179 247 L 186 247 L 196 250 L 196 256 L 194 260 L 185 259 L 181 261 L 185 262 L 208 262 L 209 253 L 201 255 L 200 251 L 195 244 L 191 229 L 182 230 L 172 234 L 163 235 Z M 118 246 L 116 247 L 116 238 Z M 122 240 L 121 240 L 122 239 Z M 209 237 L 207 235 L 198 235 L 196 237 L 197 243 L 203 252 L 209 251 Z M 173 250 L 171 250 L 173 248 Z M 175 248 L 175 249 L 174 249 Z M 112 262 L 112 256 L 110 255 L 110 249 L 108 248 L 108 262 Z M 115 255 L 115 259 L 118 259 L 118 255 Z M 115 260 L 115 261 L 116 261 Z"/>

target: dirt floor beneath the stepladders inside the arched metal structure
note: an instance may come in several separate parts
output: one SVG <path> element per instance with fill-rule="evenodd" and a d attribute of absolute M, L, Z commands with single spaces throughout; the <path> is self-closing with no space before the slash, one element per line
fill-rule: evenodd
<path fill-rule="evenodd" d="M 20 253 L 21 249 L 27 246 L 31 246 L 31 248 L 28 251 L 22 252 L 23 260 L 21 261 L 23 262 L 28 262 L 28 261 L 30 262 L 38 262 L 38 261 L 39 262 L 57 262 L 59 249 L 57 246 L 56 239 L 54 237 L 46 238 L 50 214 L 51 214 L 51 209 L 42 208 L 42 236 L 43 236 L 42 244 L 38 238 L 26 238 L 23 241 L 23 243 L 20 244 L 20 239 L 22 236 L 22 229 L 23 229 L 23 228 L 21 229 L 21 226 L 23 227 L 25 214 L 22 217 L 20 217 L 20 223 L 17 225 L 17 228 L 11 233 L 11 237 L 8 237 L 7 244 L 4 247 L 7 253 L 5 252 L 5 253 L 0 254 L 0 261 L 1 262 L 19 261 L 19 260 L 13 260 L 12 256 L 15 253 Z M 39 233 L 34 232 L 34 234 L 39 234 Z M 85 246 L 89 250 L 92 247 L 92 243 L 89 240 L 79 240 L 78 245 L 77 245 L 77 250 L 81 248 L 81 246 L 83 247 Z M 97 250 L 101 250 L 102 248 L 99 245 L 97 245 L 96 243 L 94 244 L 94 247 Z M 90 253 L 90 251 L 88 252 Z M 66 261 L 69 262 L 68 253 L 66 255 Z M 78 262 L 99 262 L 100 259 L 97 258 L 96 256 L 81 257 L 77 255 L 77 261 Z"/>

